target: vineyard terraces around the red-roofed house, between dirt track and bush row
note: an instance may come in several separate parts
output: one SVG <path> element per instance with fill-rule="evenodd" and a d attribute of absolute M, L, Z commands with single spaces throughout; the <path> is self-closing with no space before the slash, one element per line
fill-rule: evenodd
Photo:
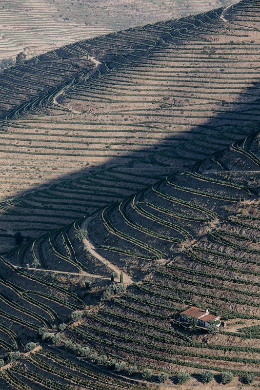
<path fill-rule="evenodd" d="M 260 326 L 259 141 L 259 133 L 242 140 L 82 224 L 99 254 L 144 278 L 69 327 L 67 337 L 155 374 L 260 375 L 251 332 Z M 184 331 L 175 320 L 187 305 L 244 328 L 207 337 Z"/>

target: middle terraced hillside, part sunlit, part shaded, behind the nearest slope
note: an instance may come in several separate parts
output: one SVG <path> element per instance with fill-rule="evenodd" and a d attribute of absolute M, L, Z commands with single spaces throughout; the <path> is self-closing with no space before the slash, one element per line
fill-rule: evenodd
<path fill-rule="evenodd" d="M 241 2 L 243 15 L 257 19 L 257 5 Z M 1 76 L 5 237 L 59 228 L 255 131 L 259 31 L 222 12 L 81 41 Z"/>

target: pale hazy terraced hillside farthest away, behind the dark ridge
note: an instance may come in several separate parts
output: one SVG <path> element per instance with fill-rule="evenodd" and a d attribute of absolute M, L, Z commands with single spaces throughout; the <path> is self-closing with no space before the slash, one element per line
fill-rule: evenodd
<path fill-rule="evenodd" d="M 232 2 L 1 0 L 0 60 L 14 58 L 21 51 L 31 58 L 80 39 L 205 12 Z"/>

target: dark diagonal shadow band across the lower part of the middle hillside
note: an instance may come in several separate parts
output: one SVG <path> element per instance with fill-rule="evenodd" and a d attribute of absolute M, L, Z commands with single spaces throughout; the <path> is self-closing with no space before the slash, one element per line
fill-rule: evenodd
<path fill-rule="evenodd" d="M 257 88 L 257 84 L 255 87 Z M 245 110 L 243 103 L 239 102 L 249 94 L 251 94 L 251 101 L 246 105 Z M 126 155 L 129 161 L 123 164 L 121 161 L 118 163 L 117 157 L 110 158 L 105 163 L 97 164 L 95 168 L 76 170 L 73 175 L 47 181 L 44 183 L 44 188 L 38 186 L 31 188 L 25 197 L 21 195 L 11 199 L 11 202 L 2 203 L 0 215 L 2 242 L 6 240 L 10 246 L 14 245 L 13 234 L 17 231 L 21 231 L 24 237 L 32 238 L 59 229 L 113 201 L 119 201 L 124 196 L 152 185 L 160 177 L 176 171 L 190 170 L 198 160 L 206 159 L 214 152 L 230 146 L 232 142 L 256 132 L 260 120 L 258 107 L 259 98 L 257 95 L 252 96 L 252 88 L 250 88 L 239 96 L 237 102 L 229 105 L 224 113 L 219 112 L 203 125 L 193 126 L 185 134 L 172 133 L 163 139 L 164 144 L 169 141 L 169 147 L 161 147 L 159 142 L 152 147 L 143 148 L 139 152 L 142 156 L 137 157 L 135 152 L 129 153 Z M 198 146 L 198 141 L 203 147 Z M 123 173 L 126 174 L 124 180 L 121 178 Z M 97 174 L 101 175 L 99 176 L 101 179 L 97 180 Z M 148 174 L 150 177 L 146 177 L 149 176 Z M 115 179 L 111 175 L 114 175 Z M 99 186 L 102 182 L 103 188 L 101 184 Z M 80 187 L 77 189 L 79 183 Z M 64 193 L 62 193 L 63 189 Z M 77 201 L 79 197 L 82 201 Z M 42 206 L 43 199 L 44 206 Z M 57 200 L 59 208 L 57 208 Z M 51 216 L 48 216 L 50 210 Z"/>

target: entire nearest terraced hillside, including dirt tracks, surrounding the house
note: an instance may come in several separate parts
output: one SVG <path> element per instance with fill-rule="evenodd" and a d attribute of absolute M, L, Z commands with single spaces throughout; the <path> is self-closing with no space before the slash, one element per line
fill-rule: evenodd
<path fill-rule="evenodd" d="M 192 171 L 167 176 L 95 213 L 82 221 L 80 229 L 74 224 L 2 257 L 2 265 L 9 267 L 8 274 L 11 270 L 13 273 L 12 283 L 1 279 L 3 288 L 9 289 L 8 295 L 7 291 L 1 294 L 3 350 L 7 345 L 21 349 L 26 341 L 24 327 L 27 340 L 34 341 L 31 330 L 39 333 L 40 324 L 46 327 L 40 347 L 35 345 L 32 352 L 20 356 L 19 364 L 4 366 L 0 371 L 2 388 L 56 390 L 67 385 L 138 390 L 142 383 L 149 386 L 151 381 L 166 381 L 165 386 L 173 386 L 178 373 L 184 371 L 191 379 L 183 389 L 204 389 L 198 382 L 203 370 L 215 374 L 212 385 L 216 388 L 222 388 L 218 378 L 226 370 L 235 376 L 232 388 L 239 388 L 239 381 L 249 375 L 255 380 L 253 387 L 247 388 L 258 386 L 259 144 L 258 132 L 201 160 Z M 82 242 L 88 249 L 88 262 L 80 257 L 84 251 L 79 251 L 76 240 L 69 240 L 71 229 L 76 229 L 81 239 L 85 237 Z M 60 316 L 57 303 L 61 300 L 55 293 L 60 291 L 66 297 L 62 299 L 63 307 L 78 309 L 74 313 L 82 312 L 80 295 L 73 293 L 71 286 L 64 291 L 60 279 L 50 285 L 46 276 L 39 278 L 37 274 L 48 267 L 57 272 L 60 267 L 64 274 L 64 270 L 68 274 L 81 271 L 81 278 L 90 277 L 86 272 L 93 255 L 107 268 L 101 267 L 100 276 L 93 275 L 92 283 L 96 276 L 109 275 L 115 267 L 131 276 L 123 273 L 125 283 L 120 280 L 110 284 L 101 306 L 86 306 L 83 298 L 81 304 L 87 309 L 83 316 L 80 314 L 76 322 L 63 325 L 59 331 L 56 326 L 64 317 Z M 40 262 L 41 270 L 26 270 L 20 265 L 25 258 L 30 261 L 30 256 Z M 38 291 L 24 290 L 25 277 L 27 283 L 31 278 L 30 283 L 40 283 L 47 291 L 39 287 Z M 101 291 L 105 286 L 108 284 Z M 14 294 L 20 294 L 23 302 L 21 298 L 11 299 Z M 55 303 L 55 311 L 43 305 L 39 297 Z M 34 306 L 33 312 L 28 304 Z M 181 326 L 178 313 L 187 306 L 220 315 L 225 327 L 217 334 L 206 335 L 201 329 Z M 10 307 L 22 315 L 5 314 Z M 56 324 L 53 334 L 46 333 L 49 318 Z M 15 328 L 10 326 L 12 321 Z M 145 370 L 151 370 L 148 382 L 143 382 Z"/>

